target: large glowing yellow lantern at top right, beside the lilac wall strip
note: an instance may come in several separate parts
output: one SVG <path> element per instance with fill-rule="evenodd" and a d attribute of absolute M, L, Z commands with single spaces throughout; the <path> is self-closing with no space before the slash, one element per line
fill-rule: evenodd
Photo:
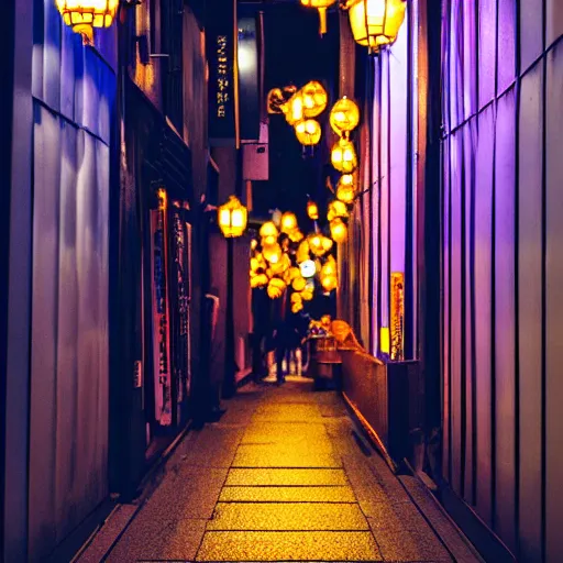
<path fill-rule="evenodd" d="M 360 45 L 378 49 L 397 38 L 405 20 L 406 0 L 349 0 L 350 26 Z"/>

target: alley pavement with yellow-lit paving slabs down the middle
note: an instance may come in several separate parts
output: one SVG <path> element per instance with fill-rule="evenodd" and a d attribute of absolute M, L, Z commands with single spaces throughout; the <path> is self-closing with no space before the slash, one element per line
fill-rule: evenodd
<path fill-rule="evenodd" d="M 176 449 L 107 561 L 476 561 L 434 507 L 445 548 L 338 394 L 289 378 L 228 407 Z M 81 563 L 103 560 L 104 528 Z"/>

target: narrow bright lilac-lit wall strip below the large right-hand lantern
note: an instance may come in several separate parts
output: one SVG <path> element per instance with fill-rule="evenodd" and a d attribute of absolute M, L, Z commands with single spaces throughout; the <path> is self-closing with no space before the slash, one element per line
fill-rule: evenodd
<path fill-rule="evenodd" d="M 380 329 L 390 324 L 390 276 L 406 275 L 407 263 L 411 272 L 416 268 L 416 244 L 409 232 L 416 231 L 415 170 L 416 101 L 409 92 L 416 88 L 416 68 L 409 65 L 416 60 L 416 33 L 413 31 L 417 2 L 409 2 L 408 14 L 397 41 L 375 58 L 373 168 L 377 181 L 372 191 L 373 243 L 372 275 L 373 316 L 372 352 L 380 355 Z M 410 20 L 410 22 L 409 22 Z M 412 97 L 416 100 L 416 96 Z M 410 144 L 409 144 L 410 141 Z M 416 295 L 416 279 L 406 279 L 409 295 Z M 406 358 L 416 356 L 416 300 L 412 300 L 406 317 L 406 331 L 411 334 Z"/>

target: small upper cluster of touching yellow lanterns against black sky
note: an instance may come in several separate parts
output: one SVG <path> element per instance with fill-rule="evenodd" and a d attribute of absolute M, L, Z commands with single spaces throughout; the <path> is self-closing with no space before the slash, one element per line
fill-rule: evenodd
<path fill-rule="evenodd" d="M 321 140 L 321 125 L 314 118 L 327 109 L 328 102 L 327 90 L 320 82 L 311 80 L 299 90 L 292 87 L 271 90 L 268 112 L 283 113 L 295 129 L 298 141 L 303 146 L 313 146 Z"/>

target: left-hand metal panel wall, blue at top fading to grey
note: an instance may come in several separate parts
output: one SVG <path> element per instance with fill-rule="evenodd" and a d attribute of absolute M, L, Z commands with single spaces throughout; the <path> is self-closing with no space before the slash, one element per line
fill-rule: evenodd
<path fill-rule="evenodd" d="M 113 31 L 102 32 L 96 49 L 85 48 L 54 2 L 34 3 L 31 561 L 47 555 L 109 493 L 113 40 Z"/>

